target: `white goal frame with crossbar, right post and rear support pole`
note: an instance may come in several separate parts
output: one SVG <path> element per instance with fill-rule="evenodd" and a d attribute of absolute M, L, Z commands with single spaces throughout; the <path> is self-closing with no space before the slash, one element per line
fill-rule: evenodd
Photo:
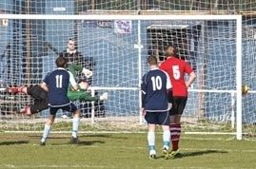
<path fill-rule="evenodd" d="M 235 20 L 236 21 L 236 138 L 242 140 L 242 15 L 51 15 L 51 14 L 1 14 L 0 19 L 31 20 L 137 20 L 138 21 L 138 65 L 142 77 L 140 42 L 141 20 Z M 138 80 L 139 83 L 139 80 Z M 93 87 L 92 87 L 93 88 Z M 101 87 L 95 87 L 101 89 Z M 116 87 L 115 87 L 116 88 Z M 111 87 L 109 87 L 111 89 Z M 138 89 L 136 87 L 130 89 Z M 141 105 L 141 103 L 140 103 Z M 140 112 L 141 115 L 141 112 Z M 142 116 L 140 116 L 142 122 Z"/>

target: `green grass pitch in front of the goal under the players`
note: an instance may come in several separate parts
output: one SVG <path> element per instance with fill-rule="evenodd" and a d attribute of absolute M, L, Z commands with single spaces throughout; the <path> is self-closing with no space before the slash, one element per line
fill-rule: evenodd
<path fill-rule="evenodd" d="M 256 168 L 256 141 L 236 141 L 230 136 L 183 135 L 183 156 L 148 159 L 147 134 L 83 134 L 80 145 L 69 144 L 69 135 L 52 134 L 39 146 L 38 134 L 0 134 L 0 168 Z"/>

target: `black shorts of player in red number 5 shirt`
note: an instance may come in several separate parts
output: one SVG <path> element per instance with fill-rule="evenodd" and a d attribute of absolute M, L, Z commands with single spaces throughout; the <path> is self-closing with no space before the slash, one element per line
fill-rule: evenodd
<path fill-rule="evenodd" d="M 168 102 L 172 104 L 169 116 L 182 115 L 187 103 L 187 97 L 169 95 Z"/>

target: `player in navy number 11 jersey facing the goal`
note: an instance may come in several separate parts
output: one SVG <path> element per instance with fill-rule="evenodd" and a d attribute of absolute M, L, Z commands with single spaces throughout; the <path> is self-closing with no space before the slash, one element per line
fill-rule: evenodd
<path fill-rule="evenodd" d="M 66 58 L 58 57 L 55 63 L 57 69 L 50 72 L 41 84 L 41 87 L 48 91 L 49 99 L 49 118 L 45 124 L 41 145 L 46 144 L 50 126 L 54 122 L 58 109 L 63 109 L 73 113 L 71 141 L 73 143 L 79 143 L 77 130 L 80 122 L 80 111 L 74 103 L 69 101 L 67 96 L 69 84 L 71 84 L 74 90 L 78 89 L 78 85 L 76 84 L 73 75 L 65 69 L 68 64 L 68 60 Z"/>

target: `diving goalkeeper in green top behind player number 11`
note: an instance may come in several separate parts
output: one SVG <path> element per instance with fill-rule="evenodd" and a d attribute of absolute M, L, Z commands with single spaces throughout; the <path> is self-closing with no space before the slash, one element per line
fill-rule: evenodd
<path fill-rule="evenodd" d="M 69 69 L 72 70 L 82 70 L 82 73 L 84 73 L 87 78 L 89 78 L 92 75 L 92 72 L 89 71 L 86 68 L 83 68 L 82 66 L 76 66 L 76 65 L 70 65 Z M 86 70 L 86 71 L 83 71 Z M 89 84 L 86 81 L 80 81 L 79 83 L 79 89 L 74 91 L 69 86 L 68 91 L 68 98 L 70 101 L 86 101 L 86 102 L 92 102 L 92 101 L 107 101 L 108 100 L 108 93 L 103 93 L 101 96 L 95 96 L 92 97 L 88 93 Z M 49 107 L 49 101 L 48 101 L 48 93 L 46 90 L 44 90 L 40 84 L 37 85 L 31 85 L 31 86 L 11 86 L 7 88 L 7 91 L 9 93 L 17 94 L 17 93 L 23 93 L 30 95 L 34 102 L 30 105 L 25 106 L 24 108 L 20 109 L 20 113 L 23 113 L 25 115 L 30 116 L 31 114 L 39 113 L 40 111 L 46 110 Z"/>

